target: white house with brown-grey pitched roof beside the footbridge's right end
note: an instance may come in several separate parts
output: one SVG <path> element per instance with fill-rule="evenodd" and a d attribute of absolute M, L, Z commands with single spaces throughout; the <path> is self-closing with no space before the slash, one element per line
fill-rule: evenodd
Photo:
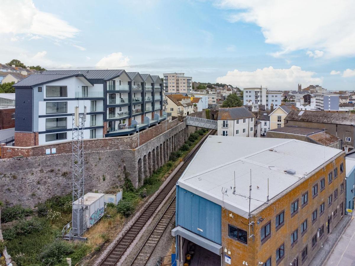
<path fill-rule="evenodd" d="M 245 107 L 219 108 L 219 136 L 254 137 L 255 115 Z"/>

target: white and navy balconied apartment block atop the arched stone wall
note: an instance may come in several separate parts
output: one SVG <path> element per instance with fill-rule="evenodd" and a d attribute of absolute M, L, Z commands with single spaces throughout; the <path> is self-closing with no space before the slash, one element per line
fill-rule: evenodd
<path fill-rule="evenodd" d="M 29 75 L 15 87 L 15 145 L 72 139 L 75 106 L 86 106 L 84 138 L 129 135 L 166 119 L 158 76 L 124 70 L 61 70 Z"/>

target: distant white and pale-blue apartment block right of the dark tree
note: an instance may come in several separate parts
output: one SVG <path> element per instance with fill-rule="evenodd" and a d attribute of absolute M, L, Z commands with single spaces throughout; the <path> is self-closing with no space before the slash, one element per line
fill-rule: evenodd
<path fill-rule="evenodd" d="M 244 88 L 244 105 L 262 104 L 266 109 L 270 109 L 271 104 L 274 107 L 281 105 L 282 92 L 268 90 L 267 88 Z"/>

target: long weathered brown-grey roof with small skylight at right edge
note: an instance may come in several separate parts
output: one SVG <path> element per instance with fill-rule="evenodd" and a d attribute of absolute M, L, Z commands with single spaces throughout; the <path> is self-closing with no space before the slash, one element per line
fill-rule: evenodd
<path fill-rule="evenodd" d="M 301 115 L 299 115 L 301 113 Z M 355 113 L 291 110 L 285 120 L 355 125 Z"/>

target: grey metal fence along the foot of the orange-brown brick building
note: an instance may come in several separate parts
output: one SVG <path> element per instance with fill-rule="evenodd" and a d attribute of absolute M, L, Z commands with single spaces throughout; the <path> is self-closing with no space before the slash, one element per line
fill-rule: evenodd
<path fill-rule="evenodd" d="M 350 215 L 345 215 L 338 225 L 329 233 L 326 241 L 323 243 L 323 248 L 318 251 L 313 260 L 310 262 L 309 266 L 321 266 L 326 260 L 327 256 L 331 253 L 334 244 L 339 239 L 340 235 L 343 233 L 344 228 L 348 225 L 351 220 Z"/>

